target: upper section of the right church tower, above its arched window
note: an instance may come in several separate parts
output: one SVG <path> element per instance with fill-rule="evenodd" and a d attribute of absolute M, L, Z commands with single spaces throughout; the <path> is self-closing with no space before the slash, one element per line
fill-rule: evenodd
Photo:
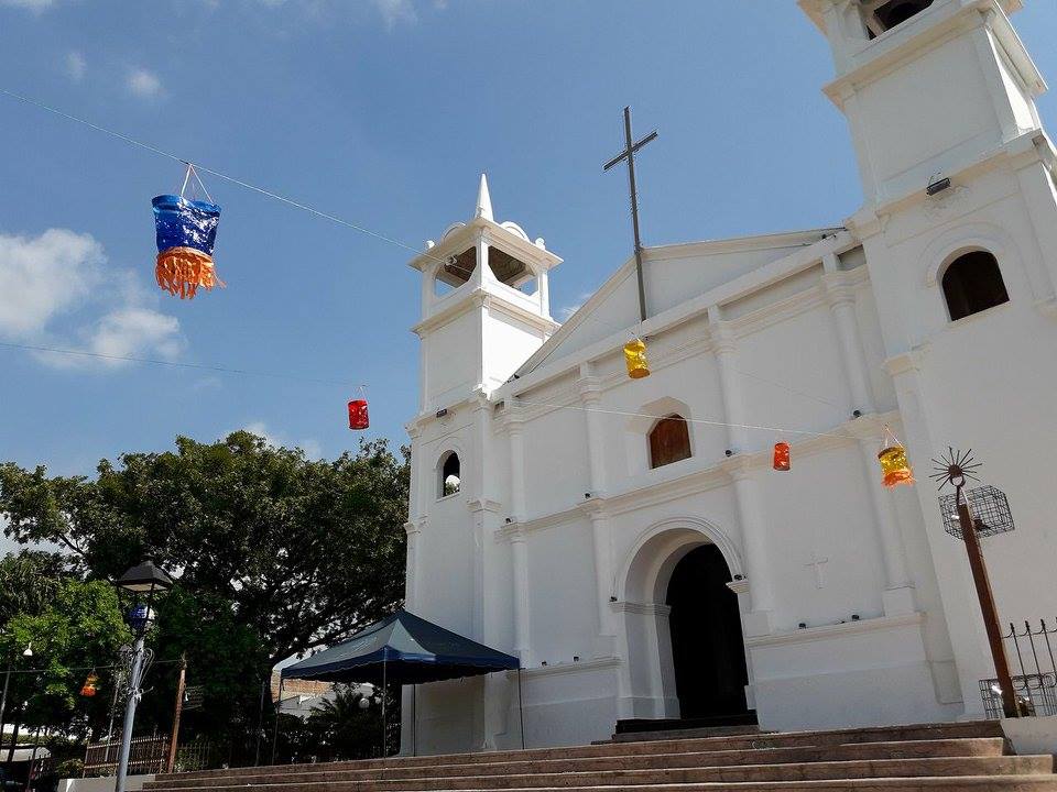
<path fill-rule="evenodd" d="M 925 189 L 1038 130 L 1046 84 L 1010 24 L 1021 0 L 799 0 L 829 40 L 826 94 L 868 204 Z"/>

